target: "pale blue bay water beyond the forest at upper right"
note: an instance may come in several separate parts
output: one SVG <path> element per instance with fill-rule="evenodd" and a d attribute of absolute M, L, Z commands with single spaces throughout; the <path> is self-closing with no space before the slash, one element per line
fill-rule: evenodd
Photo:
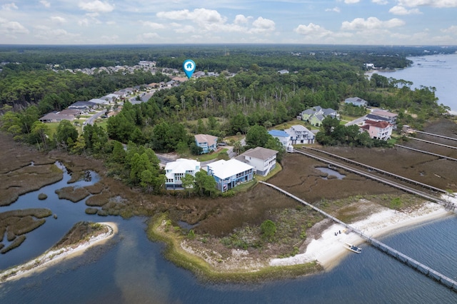
<path fill-rule="evenodd" d="M 457 111 L 457 54 L 408 58 L 413 65 L 398 71 L 376 71 L 377 74 L 412 81 L 411 88 L 433 86 L 438 103 Z"/>

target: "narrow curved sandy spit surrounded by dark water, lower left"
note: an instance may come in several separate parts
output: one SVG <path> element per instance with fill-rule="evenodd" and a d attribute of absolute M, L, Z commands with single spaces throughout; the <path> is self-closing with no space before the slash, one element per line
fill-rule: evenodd
<path fill-rule="evenodd" d="M 107 226 L 109 228 L 108 233 L 92 237 L 84 243 L 80 243 L 76 247 L 71 245 L 59 250 L 46 251 L 46 253 L 40 255 L 34 260 L 18 265 L 14 268 L 4 270 L 0 273 L 0 283 L 6 282 L 8 280 L 17 280 L 19 278 L 23 278 L 26 275 L 31 275 L 37 271 L 44 270 L 49 266 L 54 265 L 55 263 L 61 262 L 64 259 L 72 258 L 76 255 L 81 255 L 84 253 L 84 250 L 90 248 L 91 246 L 106 242 L 106 240 L 109 240 L 113 237 L 114 234 L 118 232 L 116 223 L 104 222 L 99 224 Z"/>

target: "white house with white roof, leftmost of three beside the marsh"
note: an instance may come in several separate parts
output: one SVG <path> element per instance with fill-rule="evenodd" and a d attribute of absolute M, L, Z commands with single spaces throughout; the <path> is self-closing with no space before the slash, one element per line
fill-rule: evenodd
<path fill-rule="evenodd" d="M 195 176 L 200 171 L 200 162 L 194 159 L 178 158 L 165 165 L 166 188 L 182 188 L 182 181 L 186 174 Z"/>

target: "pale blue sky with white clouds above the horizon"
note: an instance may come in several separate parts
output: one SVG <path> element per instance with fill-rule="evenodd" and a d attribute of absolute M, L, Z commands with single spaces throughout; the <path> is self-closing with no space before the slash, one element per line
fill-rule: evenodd
<path fill-rule="evenodd" d="M 457 0 L 0 0 L 0 44 L 457 45 Z"/>

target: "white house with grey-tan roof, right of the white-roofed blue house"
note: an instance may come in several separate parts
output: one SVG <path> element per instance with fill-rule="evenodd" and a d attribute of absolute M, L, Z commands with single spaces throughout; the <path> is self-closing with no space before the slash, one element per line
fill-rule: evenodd
<path fill-rule="evenodd" d="M 237 156 L 236 159 L 253 166 L 256 174 L 267 176 L 276 167 L 276 154 L 278 151 L 256 147 Z"/>

